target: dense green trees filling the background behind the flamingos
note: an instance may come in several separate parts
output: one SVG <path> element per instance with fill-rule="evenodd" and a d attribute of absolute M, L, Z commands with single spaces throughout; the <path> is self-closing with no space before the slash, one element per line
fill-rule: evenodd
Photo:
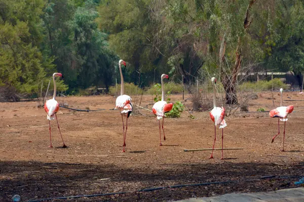
<path fill-rule="evenodd" d="M 53 72 L 63 74 L 58 90 L 67 93 L 108 89 L 120 83 L 123 59 L 128 83 L 153 86 L 162 73 L 186 85 L 216 76 L 233 104 L 236 90 L 251 85 L 235 86 L 241 71 L 304 71 L 303 6 L 301 0 L 0 0 L 0 93 L 36 96 Z"/>

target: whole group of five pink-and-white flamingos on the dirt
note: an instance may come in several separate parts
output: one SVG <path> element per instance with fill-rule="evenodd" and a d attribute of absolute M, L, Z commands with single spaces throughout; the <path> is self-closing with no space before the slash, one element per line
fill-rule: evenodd
<path fill-rule="evenodd" d="M 120 76 L 121 76 L 121 94 L 120 96 L 117 97 L 116 99 L 116 107 L 115 109 L 118 109 L 120 112 L 120 115 L 122 117 L 122 122 L 123 122 L 123 152 L 125 152 L 125 147 L 126 147 L 126 135 L 127 135 L 127 129 L 128 129 L 128 118 L 130 117 L 130 114 L 132 113 L 132 103 L 131 103 L 131 97 L 129 95 L 124 94 L 124 77 L 123 77 L 123 73 L 122 73 L 122 66 L 126 67 L 126 62 L 123 60 L 119 61 L 119 70 L 120 70 Z M 63 141 L 63 137 L 60 131 L 60 127 L 59 127 L 59 123 L 58 123 L 58 119 L 57 119 L 57 115 L 56 113 L 59 110 L 59 104 L 58 102 L 55 100 L 56 97 L 56 81 L 55 81 L 55 77 L 62 77 L 61 73 L 54 73 L 53 74 L 53 82 L 54 82 L 54 95 L 52 99 L 49 99 L 45 102 L 44 105 L 44 109 L 47 113 L 47 119 L 49 120 L 49 133 L 50 133 L 50 147 L 53 147 L 52 145 L 52 137 L 51 137 L 51 120 L 54 120 L 56 118 L 57 121 L 57 126 L 58 126 L 58 130 L 59 133 L 61 135 L 61 139 L 63 142 L 63 148 L 67 147 Z M 165 136 L 165 130 L 164 130 L 164 118 L 165 118 L 165 114 L 167 112 L 170 112 L 173 108 L 173 103 L 167 103 L 165 101 L 165 91 L 164 91 L 164 83 L 163 83 L 163 79 L 169 79 L 169 76 L 166 74 L 162 74 L 161 75 L 161 86 L 162 86 L 162 99 L 158 102 L 156 102 L 152 108 L 152 112 L 154 115 L 156 115 L 156 119 L 158 120 L 159 123 L 159 132 L 160 132 L 160 146 L 162 146 L 162 135 L 161 135 L 161 123 L 160 120 L 162 119 L 162 130 L 163 130 L 163 134 L 164 134 L 164 140 L 166 140 L 166 136 Z M 225 108 L 224 107 L 216 107 L 216 78 L 212 77 L 211 78 L 211 82 L 212 82 L 212 87 L 213 87 L 213 109 L 210 111 L 210 118 L 214 123 L 214 141 L 213 141 L 213 146 L 212 146 L 212 152 L 211 152 L 211 156 L 209 159 L 213 159 L 213 150 L 214 150 L 214 145 L 215 145 L 215 141 L 216 141 L 216 126 L 219 126 L 220 129 L 222 129 L 221 131 L 221 159 L 223 160 L 223 129 L 227 126 L 226 122 L 225 122 Z M 293 111 L 293 106 L 282 106 L 283 105 L 283 89 L 280 89 L 280 93 L 281 93 L 281 105 L 280 107 L 270 111 L 269 115 L 272 118 L 278 118 L 278 134 L 276 134 L 273 138 L 272 138 L 272 142 L 274 142 L 274 139 L 280 134 L 280 121 L 284 121 L 284 132 L 283 132 L 283 149 L 284 150 L 284 142 L 285 142 L 285 126 L 286 126 L 286 121 L 288 114 L 290 114 Z M 124 117 L 126 117 L 126 127 L 125 127 L 125 123 L 124 123 Z"/>

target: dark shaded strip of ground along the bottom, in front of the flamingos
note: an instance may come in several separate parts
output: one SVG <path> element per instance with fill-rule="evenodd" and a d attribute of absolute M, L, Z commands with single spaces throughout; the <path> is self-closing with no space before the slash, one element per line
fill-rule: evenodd
<path fill-rule="evenodd" d="M 134 151 L 133 151 L 134 152 Z M 294 179 L 267 179 L 262 176 L 303 175 L 303 166 L 275 165 L 273 163 L 204 162 L 178 163 L 148 166 L 136 164 L 125 167 L 122 164 L 102 162 L 100 164 L 65 164 L 36 161 L 0 161 L 0 201 L 8 201 L 19 194 L 22 200 L 31 198 L 58 197 L 116 191 L 140 190 L 143 187 L 172 186 L 177 184 L 198 184 L 237 180 L 233 184 L 189 186 L 182 189 L 159 189 L 141 193 L 140 201 L 183 199 L 196 196 L 211 196 L 230 192 L 255 192 L 294 187 Z M 244 179 L 256 179 L 252 182 Z M 104 196 L 103 200 L 136 201 L 137 193 L 129 195 Z M 54 201 L 54 200 L 52 200 Z M 55 200 L 61 201 L 61 200 Z M 73 201 L 97 201 L 96 198 Z"/>

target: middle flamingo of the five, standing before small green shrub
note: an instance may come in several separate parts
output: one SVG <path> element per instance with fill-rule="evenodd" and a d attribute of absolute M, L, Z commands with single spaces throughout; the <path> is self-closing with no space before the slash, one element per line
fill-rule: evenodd
<path fill-rule="evenodd" d="M 165 113 L 166 112 L 170 112 L 172 110 L 172 107 L 173 107 L 173 103 L 167 103 L 165 101 L 165 91 L 164 91 L 164 84 L 163 84 L 163 79 L 164 78 L 169 78 L 168 75 L 166 74 L 162 74 L 161 76 L 161 83 L 162 83 L 162 100 L 159 101 L 159 102 L 156 102 L 154 105 L 153 105 L 153 108 L 152 108 L 152 112 L 153 114 L 155 114 L 157 116 L 157 119 L 159 121 L 159 126 L 160 126 L 160 146 L 162 146 L 162 137 L 161 137 L 161 123 L 160 123 L 160 120 L 163 119 L 163 125 L 162 125 L 162 128 L 163 128 L 163 132 L 164 132 L 164 140 L 166 140 L 166 136 L 165 136 L 165 130 L 164 130 L 164 117 L 165 117 Z"/>

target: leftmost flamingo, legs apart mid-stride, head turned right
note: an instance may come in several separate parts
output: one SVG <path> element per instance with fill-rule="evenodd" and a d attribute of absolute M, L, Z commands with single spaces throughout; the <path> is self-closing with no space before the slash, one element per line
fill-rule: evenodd
<path fill-rule="evenodd" d="M 62 147 L 65 148 L 67 146 L 64 144 L 64 141 L 63 141 L 63 138 L 62 138 L 62 134 L 61 134 L 60 128 L 59 128 L 59 123 L 58 123 L 57 115 L 56 115 L 56 113 L 59 110 L 59 104 L 55 100 L 55 97 L 56 97 L 56 82 L 55 82 L 55 77 L 62 77 L 62 74 L 61 73 L 54 73 L 53 74 L 53 82 L 54 82 L 54 95 L 53 95 L 53 99 L 46 100 L 44 108 L 45 108 L 45 111 L 47 113 L 47 119 L 49 120 L 49 125 L 50 125 L 50 128 L 49 128 L 49 130 L 50 130 L 50 142 L 51 142 L 50 147 L 53 147 L 52 146 L 52 138 L 51 138 L 51 121 L 50 120 L 54 120 L 55 117 L 56 117 L 59 133 L 61 135 L 61 139 L 62 139 L 62 142 L 63 142 L 63 146 Z"/>

